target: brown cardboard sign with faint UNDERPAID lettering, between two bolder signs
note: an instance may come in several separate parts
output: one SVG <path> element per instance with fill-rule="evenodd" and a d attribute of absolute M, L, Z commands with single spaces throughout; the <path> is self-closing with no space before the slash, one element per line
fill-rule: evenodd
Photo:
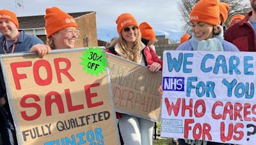
<path fill-rule="evenodd" d="M 108 54 L 109 76 L 117 112 L 160 121 L 161 72 L 150 72 L 148 67 Z"/>

